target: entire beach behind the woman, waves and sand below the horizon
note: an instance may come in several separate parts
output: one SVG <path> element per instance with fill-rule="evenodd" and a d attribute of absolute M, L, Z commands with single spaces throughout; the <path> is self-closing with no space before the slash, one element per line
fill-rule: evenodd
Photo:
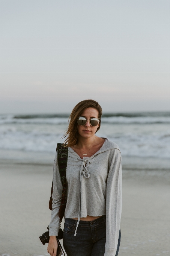
<path fill-rule="evenodd" d="M 0 115 L 0 256 L 49 255 L 39 236 L 50 223 L 54 155 L 68 117 Z M 170 255 L 169 128 L 169 112 L 102 116 L 97 136 L 122 155 L 119 256 Z"/>

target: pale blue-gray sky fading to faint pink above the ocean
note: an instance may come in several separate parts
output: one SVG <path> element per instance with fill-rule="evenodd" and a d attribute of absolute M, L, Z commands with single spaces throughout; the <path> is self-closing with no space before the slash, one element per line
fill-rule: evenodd
<path fill-rule="evenodd" d="M 0 0 L 0 113 L 170 111 L 170 1 Z"/>

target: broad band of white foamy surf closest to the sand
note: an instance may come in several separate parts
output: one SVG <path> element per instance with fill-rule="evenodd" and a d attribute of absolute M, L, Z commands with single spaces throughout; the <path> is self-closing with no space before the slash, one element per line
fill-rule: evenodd
<path fill-rule="evenodd" d="M 14 128 L 0 133 L 1 149 L 23 151 L 55 152 L 57 142 L 63 134 L 24 132 Z M 138 157 L 170 157 L 170 134 L 121 134 L 120 136 L 102 136 L 116 142 L 122 155 Z"/>

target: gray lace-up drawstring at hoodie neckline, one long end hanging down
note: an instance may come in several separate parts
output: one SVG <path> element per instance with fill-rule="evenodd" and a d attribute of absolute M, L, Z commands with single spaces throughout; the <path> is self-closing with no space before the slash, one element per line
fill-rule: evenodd
<path fill-rule="evenodd" d="M 77 220 L 77 226 L 76 226 L 76 229 L 75 229 L 74 236 L 77 235 L 77 228 L 78 228 L 78 224 L 80 222 L 80 216 L 81 216 L 81 176 L 84 176 L 86 179 L 90 178 L 90 173 L 87 170 L 87 168 L 90 165 L 89 160 L 91 160 L 93 157 L 94 156 L 92 156 L 92 157 L 83 157 L 83 159 L 78 157 L 78 160 L 81 160 L 82 164 L 81 164 L 81 168 L 80 168 L 80 177 L 79 177 L 80 200 L 79 200 L 78 220 Z"/>

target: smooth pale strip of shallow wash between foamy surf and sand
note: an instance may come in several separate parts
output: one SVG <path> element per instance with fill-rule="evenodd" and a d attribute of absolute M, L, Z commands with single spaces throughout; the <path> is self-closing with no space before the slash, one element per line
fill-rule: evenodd
<path fill-rule="evenodd" d="M 0 163 L 53 166 L 55 152 L 0 149 Z M 122 156 L 122 170 L 170 171 L 169 158 Z"/>

